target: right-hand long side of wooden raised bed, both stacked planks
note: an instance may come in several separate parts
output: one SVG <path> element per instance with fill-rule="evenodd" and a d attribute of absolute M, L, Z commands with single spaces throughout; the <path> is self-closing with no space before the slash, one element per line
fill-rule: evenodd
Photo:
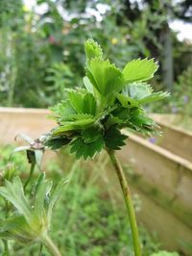
<path fill-rule="evenodd" d="M 119 158 L 134 170 L 129 178 L 142 201 L 139 219 L 156 231 L 168 248 L 186 252 L 181 244 L 192 244 L 192 163 L 127 131 L 125 134 L 130 138 Z"/>

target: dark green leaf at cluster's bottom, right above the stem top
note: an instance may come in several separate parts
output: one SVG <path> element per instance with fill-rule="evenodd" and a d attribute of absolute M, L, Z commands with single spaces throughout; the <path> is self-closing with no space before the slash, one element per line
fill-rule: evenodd
<path fill-rule="evenodd" d="M 105 135 L 105 144 L 106 147 L 112 150 L 119 150 L 121 146 L 125 145 L 125 140 L 128 137 L 122 135 L 120 130 L 116 126 L 111 126 Z"/>

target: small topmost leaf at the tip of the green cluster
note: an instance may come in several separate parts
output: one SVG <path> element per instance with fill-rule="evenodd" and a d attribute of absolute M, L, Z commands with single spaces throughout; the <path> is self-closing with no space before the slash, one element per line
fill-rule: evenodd
<path fill-rule="evenodd" d="M 84 42 L 84 51 L 87 61 L 94 58 L 103 58 L 103 51 L 101 46 L 93 39 L 87 39 Z"/>

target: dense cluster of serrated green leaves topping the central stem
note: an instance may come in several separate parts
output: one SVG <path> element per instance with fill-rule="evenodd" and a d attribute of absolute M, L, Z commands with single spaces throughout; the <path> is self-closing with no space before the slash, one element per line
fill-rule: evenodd
<path fill-rule="evenodd" d="M 71 153 L 87 159 L 103 148 L 120 149 L 127 138 L 121 134 L 122 128 L 153 133 L 156 123 L 146 115 L 143 104 L 168 94 L 153 92 L 146 83 L 157 69 L 153 59 L 133 60 L 120 70 L 105 60 L 93 39 L 86 40 L 84 48 L 84 88 L 65 90 L 65 98 L 51 109 L 58 127 L 45 145 L 57 149 L 69 143 Z"/>

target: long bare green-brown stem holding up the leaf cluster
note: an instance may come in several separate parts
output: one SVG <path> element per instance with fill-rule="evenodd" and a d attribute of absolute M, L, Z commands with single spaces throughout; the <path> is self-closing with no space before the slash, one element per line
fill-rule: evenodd
<path fill-rule="evenodd" d="M 117 157 L 114 154 L 113 150 L 107 149 L 108 156 L 110 158 L 111 164 L 114 167 L 117 177 L 119 179 L 119 183 L 121 185 L 121 189 L 124 195 L 128 216 L 130 219 L 131 229 L 132 229 L 132 241 L 133 241 L 133 249 L 134 249 L 134 255 L 135 256 L 141 256 L 141 248 L 140 248 L 140 242 L 139 242 L 139 236 L 138 236 L 138 228 L 134 213 L 134 208 L 132 205 L 132 196 L 131 192 L 123 171 L 123 168 L 118 161 Z"/>

